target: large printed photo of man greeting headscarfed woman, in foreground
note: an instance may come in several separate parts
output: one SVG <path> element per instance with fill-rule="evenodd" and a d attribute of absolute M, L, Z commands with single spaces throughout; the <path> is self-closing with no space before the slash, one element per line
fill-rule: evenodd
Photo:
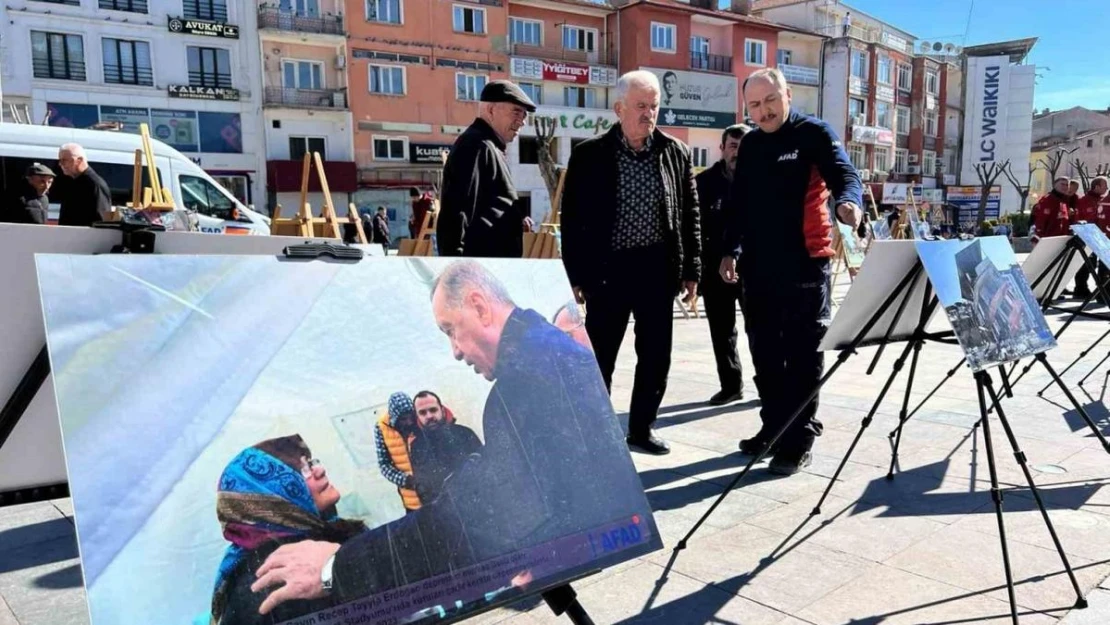
<path fill-rule="evenodd" d="M 558 261 L 37 260 L 92 625 L 448 623 L 662 546 Z"/>

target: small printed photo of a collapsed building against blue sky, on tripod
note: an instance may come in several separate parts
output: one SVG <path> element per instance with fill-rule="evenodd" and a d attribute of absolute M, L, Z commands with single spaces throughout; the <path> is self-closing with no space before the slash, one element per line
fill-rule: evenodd
<path fill-rule="evenodd" d="M 972 371 L 1056 347 L 1005 236 L 917 241 L 916 245 Z"/>

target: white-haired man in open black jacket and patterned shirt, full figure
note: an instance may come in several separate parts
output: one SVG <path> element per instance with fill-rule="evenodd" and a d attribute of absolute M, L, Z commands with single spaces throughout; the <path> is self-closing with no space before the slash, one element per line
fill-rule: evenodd
<path fill-rule="evenodd" d="M 636 319 L 636 381 L 628 446 L 666 454 L 655 436 L 670 371 L 674 298 L 700 278 L 702 240 L 689 148 L 655 127 L 659 80 L 633 71 L 617 81 L 618 123 L 571 153 L 563 187 L 563 264 L 586 304 L 586 332 L 609 389 L 617 352 Z"/>

